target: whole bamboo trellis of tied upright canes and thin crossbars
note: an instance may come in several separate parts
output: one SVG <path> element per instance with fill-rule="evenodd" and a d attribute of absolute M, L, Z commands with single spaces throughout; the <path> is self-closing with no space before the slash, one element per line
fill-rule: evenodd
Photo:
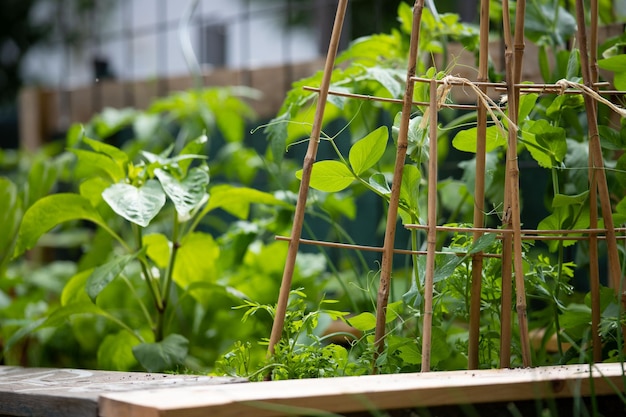
<path fill-rule="evenodd" d="M 566 80 L 555 84 L 524 84 L 522 83 L 522 63 L 524 57 L 524 13 L 525 0 L 516 2 L 515 24 L 511 27 L 509 2 L 504 0 L 503 9 L 503 33 L 505 45 L 505 74 L 506 82 L 491 83 L 488 80 L 488 39 L 489 39 L 489 0 L 482 0 L 480 7 L 480 51 L 478 76 L 474 81 L 458 77 L 445 77 L 443 80 L 423 79 L 415 76 L 418 57 L 419 33 L 421 16 L 424 8 L 424 0 L 416 0 L 413 6 L 413 26 L 411 32 L 410 52 L 406 74 L 404 98 L 390 99 L 376 96 L 365 96 L 330 90 L 330 75 L 334 67 L 337 46 L 341 35 L 343 20 L 346 14 L 347 0 L 339 0 L 337 14 L 331 35 L 324 77 L 320 88 L 305 87 L 319 94 L 317 109 L 314 118 L 311 138 L 307 154 L 303 162 L 302 181 L 298 195 L 293 228 L 290 237 L 281 237 L 280 240 L 289 241 L 289 251 L 283 273 L 283 280 L 276 309 L 276 316 L 269 341 L 268 354 L 274 352 L 276 343 L 280 340 L 284 326 L 291 280 L 294 272 L 295 260 L 299 244 L 313 244 L 331 246 L 350 250 L 376 251 L 382 253 L 380 284 L 377 296 L 376 312 L 376 351 L 380 354 L 384 349 L 386 308 L 389 298 L 389 287 L 393 267 L 393 255 L 417 254 L 426 256 L 426 271 L 424 284 L 424 315 L 422 329 L 422 362 L 421 370 L 430 370 L 431 354 L 431 330 L 432 330 L 432 302 L 433 302 L 433 276 L 435 271 L 436 242 L 438 233 L 468 232 L 472 233 L 473 239 L 477 240 L 485 233 L 494 233 L 502 241 L 502 254 L 489 254 L 478 252 L 471 254 L 472 258 L 472 283 L 471 305 L 469 322 L 469 349 L 468 367 L 478 367 L 478 347 L 480 330 L 480 294 L 483 259 L 487 257 L 499 257 L 502 261 L 502 294 L 501 294 L 501 339 L 500 339 L 500 367 L 511 365 L 511 321 L 513 299 L 513 282 L 515 282 L 515 303 L 519 325 L 519 340 L 521 343 L 523 366 L 532 366 L 530 340 L 527 323 L 527 305 L 525 296 L 525 276 L 522 265 L 522 241 L 523 240 L 587 240 L 590 245 L 590 288 L 592 303 L 592 346 L 593 360 L 601 358 L 601 341 L 599 339 L 600 326 L 600 280 L 598 273 L 597 248 L 598 241 L 605 240 L 608 252 L 608 266 L 610 285 L 616 291 L 623 287 L 624 277 L 619 264 L 617 240 L 624 238 L 618 233 L 626 232 L 625 229 L 616 229 L 611 214 L 611 204 L 607 179 L 603 166 L 600 138 L 597 123 L 597 102 L 608 104 L 614 111 L 624 116 L 624 109 L 619 108 L 602 97 L 603 94 L 623 94 L 621 91 L 600 90 L 607 83 L 598 82 L 597 70 L 597 42 L 598 42 L 598 2 L 591 1 L 591 34 L 588 42 L 587 29 L 585 27 L 585 10 L 582 0 L 576 0 L 576 19 L 578 23 L 577 40 L 580 48 L 581 69 L 584 84 L 574 84 Z M 595 17 L 594 17 L 595 16 Z M 589 47 L 588 47 L 589 45 Z M 430 99 L 428 102 L 413 101 L 413 91 L 416 83 L 429 84 Z M 456 87 L 470 87 L 476 94 L 476 104 L 449 104 L 445 98 L 447 93 Z M 505 91 L 507 93 L 508 116 L 490 98 L 488 91 Z M 520 94 L 524 93 L 547 93 L 547 94 L 582 94 L 585 101 L 588 126 L 589 126 L 589 185 L 590 185 L 590 227 L 578 230 L 524 230 L 520 222 L 520 169 L 517 160 L 518 138 L 518 107 Z M 312 166 L 315 162 L 317 146 L 320 140 L 322 118 L 325 111 L 326 99 L 329 94 L 347 97 L 354 100 L 374 100 L 380 102 L 395 102 L 402 104 L 402 118 L 399 126 L 399 134 L 396 149 L 396 161 L 394 166 L 392 187 L 387 212 L 385 239 L 382 247 L 370 247 L 363 245 L 348 245 L 334 242 L 313 241 L 301 238 L 305 203 L 308 195 Z M 431 155 L 437 155 L 437 118 L 438 110 L 443 107 L 456 109 L 477 110 L 477 147 L 476 147 L 476 183 L 474 190 L 474 217 L 473 227 L 444 227 L 437 226 L 437 158 L 429 158 L 428 166 L 428 216 L 426 225 L 405 225 L 407 228 L 423 229 L 427 235 L 427 247 L 425 251 L 411 251 L 394 248 L 395 233 L 397 228 L 397 214 L 400 196 L 401 178 L 408 146 L 408 130 L 410 115 L 413 106 L 420 105 L 427 108 L 428 115 L 424 119 L 429 121 L 429 138 Z M 497 113 L 497 115 L 495 114 Z M 498 116 L 507 121 L 506 132 Z M 506 153 L 506 176 L 504 192 L 504 208 L 502 225 L 499 229 L 484 227 L 484 200 L 485 200 L 485 159 L 486 159 L 486 127 L 491 118 L 503 129 L 503 134 L 508 138 Z M 604 219 L 604 228 L 598 228 L 598 204 Z M 464 254 L 459 254 L 459 256 Z M 622 305 L 626 306 L 626 295 L 620 294 Z M 623 330 L 622 330 L 623 331 Z M 377 372 L 374 365 L 373 372 Z"/>

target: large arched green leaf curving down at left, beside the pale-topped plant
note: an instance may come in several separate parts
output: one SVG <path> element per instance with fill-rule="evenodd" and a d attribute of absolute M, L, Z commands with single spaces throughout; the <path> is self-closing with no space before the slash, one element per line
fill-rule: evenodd
<path fill-rule="evenodd" d="M 24 213 L 14 256 L 32 249 L 39 238 L 70 220 L 88 220 L 106 227 L 89 200 L 78 194 L 53 194 L 38 200 Z"/>

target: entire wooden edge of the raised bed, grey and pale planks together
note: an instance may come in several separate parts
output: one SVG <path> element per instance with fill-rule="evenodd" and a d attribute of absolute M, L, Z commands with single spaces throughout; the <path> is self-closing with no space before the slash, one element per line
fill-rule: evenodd
<path fill-rule="evenodd" d="M 626 411 L 622 364 L 242 382 L 235 378 L 0 367 L 0 416 L 534 415 L 577 402 Z M 451 406 L 455 404 L 455 406 Z M 383 414 L 384 415 L 384 414 Z"/>

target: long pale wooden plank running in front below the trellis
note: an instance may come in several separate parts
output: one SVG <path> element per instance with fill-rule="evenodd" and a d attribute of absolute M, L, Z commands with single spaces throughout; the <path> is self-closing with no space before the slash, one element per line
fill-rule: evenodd
<path fill-rule="evenodd" d="M 623 392 L 621 364 L 371 375 L 105 394 L 101 417 L 278 416 L 478 404 Z"/>

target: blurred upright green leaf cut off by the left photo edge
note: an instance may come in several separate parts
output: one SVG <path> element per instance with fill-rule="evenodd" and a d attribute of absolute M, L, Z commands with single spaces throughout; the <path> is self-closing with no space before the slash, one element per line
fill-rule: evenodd
<path fill-rule="evenodd" d="M 11 180 L 0 177 L 0 276 L 2 265 L 10 258 L 21 219 L 22 201 L 18 189 Z"/>

